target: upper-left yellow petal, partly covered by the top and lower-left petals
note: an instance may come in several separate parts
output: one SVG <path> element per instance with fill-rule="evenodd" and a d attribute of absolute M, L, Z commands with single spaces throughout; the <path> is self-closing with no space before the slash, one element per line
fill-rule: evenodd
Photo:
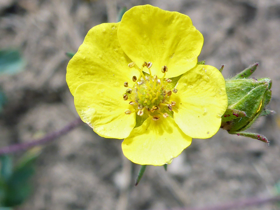
<path fill-rule="evenodd" d="M 78 52 L 69 61 L 66 81 L 74 94 L 84 82 L 103 82 L 112 88 L 123 88 L 139 72 L 129 68 L 131 60 L 119 45 L 119 23 L 104 23 L 93 27 L 86 35 Z"/>

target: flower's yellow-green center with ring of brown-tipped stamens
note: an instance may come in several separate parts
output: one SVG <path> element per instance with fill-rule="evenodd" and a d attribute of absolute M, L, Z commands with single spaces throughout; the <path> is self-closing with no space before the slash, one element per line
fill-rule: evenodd
<path fill-rule="evenodd" d="M 135 67 L 135 63 L 129 63 L 128 67 Z M 143 68 L 147 67 L 150 74 L 145 76 Z M 146 113 L 152 120 L 159 120 L 160 115 L 163 118 L 167 118 L 169 114 L 167 112 L 172 111 L 172 107 L 176 105 L 175 101 L 170 101 L 172 92 L 176 93 L 177 90 L 174 88 L 173 91 L 168 90 L 167 84 L 171 82 L 169 78 L 165 78 L 166 72 L 168 71 L 167 66 L 161 68 L 161 72 L 164 73 L 163 77 L 158 78 L 157 75 L 152 76 L 150 68 L 152 67 L 151 62 L 144 62 L 142 68 L 139 69 L 140 76 L 133 76 L 132 81 L 134 85 L 128 86 L 128 82 L 124 82 L 124 86 L 128 87 L 125 94 L 123 95 L 124 100 L 130 101 L 132 109 L 125 110 L 125 114 L 131 114 L 137 112 L 139 116 Z"/>

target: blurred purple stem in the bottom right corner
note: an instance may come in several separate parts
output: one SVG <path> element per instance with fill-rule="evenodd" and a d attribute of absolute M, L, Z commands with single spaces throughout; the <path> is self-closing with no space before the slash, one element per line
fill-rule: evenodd
<path fill-rule="evenodd" d="M 211 206 L 211 207 L 200 207 L 200 208 L 184 208 L 181 210 L 230 210 L 230 209 L 243 209 L 246 206 L 257 206 L 264 203 L 274 203 L 274 202 L 280 202 L 280 195 L 268 197 L 268 198 L 259 198 L 259 197 L 253 197 L 253 198 L 247 198 L 247 199 L 240 199 L 233 201 L 231 203 L 224 203 L 217 206 Z M 179 209 L 178 209 L 179 210 Z"/>

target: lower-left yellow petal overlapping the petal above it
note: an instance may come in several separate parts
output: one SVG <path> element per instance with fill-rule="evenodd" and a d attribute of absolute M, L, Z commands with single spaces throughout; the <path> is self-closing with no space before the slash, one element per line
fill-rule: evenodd
<path fill-rule="evenodd" d="M 105 138 L 126 138 L 135 126 L 135 114 L 124 114 L 131 107 L 122 93 L 103 83 L 85 82 L 74 93 L 81 119 Z"/>

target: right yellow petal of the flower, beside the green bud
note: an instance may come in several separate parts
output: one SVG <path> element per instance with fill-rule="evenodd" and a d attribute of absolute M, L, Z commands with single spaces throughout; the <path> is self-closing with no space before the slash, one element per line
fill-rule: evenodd
<path fill-rule="evenodd" d="M 225 80 L 217 68 L 197 65 L 179 79 L 174 120 L 192 138 L 210 138 L 221 126 L 227 107 Z"/>

